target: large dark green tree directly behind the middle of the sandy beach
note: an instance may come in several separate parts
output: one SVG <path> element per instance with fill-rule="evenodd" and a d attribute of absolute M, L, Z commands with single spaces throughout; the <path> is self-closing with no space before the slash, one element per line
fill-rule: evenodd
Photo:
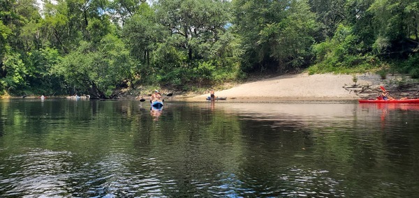
<path fill-rule="evenodd" d="M 234 24 L 247 71 L 300 67 L 314 43 L 316 22 L 307 1 L 233 1 Z"/>

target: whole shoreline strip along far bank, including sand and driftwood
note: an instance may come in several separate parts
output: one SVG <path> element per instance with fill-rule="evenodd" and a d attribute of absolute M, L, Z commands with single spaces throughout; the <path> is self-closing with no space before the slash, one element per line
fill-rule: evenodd
<path fill-rule="evenodd" d="M 402 85 L 411 85 L 408 89 Z M 418 98 L 419 81 L 410 79 L 404 75 L 387 75 L 381 79 L 379 75 L 370 73 L 358 75 L 337 75 L 332 73 L 308 75 L 300 73 L 293 75 L 280 75 L 256 81 L 236 84 L 230 89 L 216 90 L 215 96 L 227 98 L 216 100 L 216 102 L 336 102 L 336 101 L 358 101 L 359 99 L 375 98 L 381 93 L 380 86 L 393 96 Z M 406 95 L 409 93 L 410 95 Z M 166 100 L 205 102 L 210 96 L 210 90 L 204 93 L 176 93 L 166 90 L 174 96 Z M 131 91 L 124 91 L 126 94 L 119 96 L 119 100 L 136 100 L 138 95 Z M 46 96 L 47 98 L 66 98 L 67 96 Z M 23 98 L 22 96 L 6 96 L 3 98 Z M 27 96 L 24 98 L 36 99 L 38 96 Z M 95 99 L 91 99 L 95 100 Z M 100 100 L 100 99 L 98 99 Z"/>

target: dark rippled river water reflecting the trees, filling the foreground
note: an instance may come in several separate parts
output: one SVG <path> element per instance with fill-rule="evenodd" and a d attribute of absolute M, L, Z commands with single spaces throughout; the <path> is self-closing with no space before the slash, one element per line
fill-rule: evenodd
<path fill-rule="evenodd" d="M 414 197 L 419 105 L 0 100 L 0 197 Z"/>

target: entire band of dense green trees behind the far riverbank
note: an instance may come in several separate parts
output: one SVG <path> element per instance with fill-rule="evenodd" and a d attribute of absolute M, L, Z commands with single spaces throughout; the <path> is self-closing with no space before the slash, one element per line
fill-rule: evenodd
<path fill-rule="evenodd" d="M 419 77 L 416 0 L 147 2 L 0 1 L 1 94 L 112 98 L 304 68 Z"/>

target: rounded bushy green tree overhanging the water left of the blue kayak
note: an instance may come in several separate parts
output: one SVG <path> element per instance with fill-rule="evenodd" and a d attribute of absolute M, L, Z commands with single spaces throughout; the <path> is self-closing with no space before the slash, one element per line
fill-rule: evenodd
<path fill-rule="evenodd" d="M 81 42 L 77 50 L 54 67 L 67 84 L 79 91 L 88 91 L 92 98 L 112 98 L 112 90 L 132 75 L 132 61 L 122 40 L 108 34 L 95 47 Z"/>

